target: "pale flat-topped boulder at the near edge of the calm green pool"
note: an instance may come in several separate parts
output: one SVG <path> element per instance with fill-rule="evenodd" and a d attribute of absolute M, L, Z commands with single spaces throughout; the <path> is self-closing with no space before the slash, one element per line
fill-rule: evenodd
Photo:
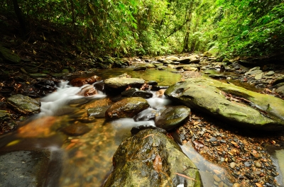
<path fill-rule="evenodd" d="M 140 88 L 145 81 L 138 78 L 114 77 L 104 80 L 104 85 L 109 91 L 124 91 L 128 86 Z"/>

